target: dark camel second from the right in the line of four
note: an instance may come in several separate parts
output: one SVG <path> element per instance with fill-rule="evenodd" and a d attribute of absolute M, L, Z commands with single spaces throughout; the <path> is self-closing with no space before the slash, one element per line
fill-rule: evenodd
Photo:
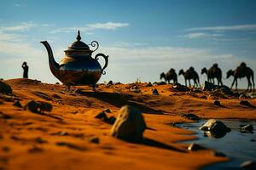
<path fill-rule="evenodd" d="M 223 85 L 223 82 L 222 82 L 222 71 L 220 70 L 220 68 L 218 68 L 218 64 L 215 63 L 212 65 L 212 67 L 207 70 L 206 67 L 204 67 L 202 70 L 201 70 L 201 74 L 204 74 L 206 73 L 207 74 L 207 81 L 208 82 L 212 82 L 213 84 L 215 83 L 214 82 L 214 78 L 217 78 L 217 81 L 218 81 L 218 85 Z"/>

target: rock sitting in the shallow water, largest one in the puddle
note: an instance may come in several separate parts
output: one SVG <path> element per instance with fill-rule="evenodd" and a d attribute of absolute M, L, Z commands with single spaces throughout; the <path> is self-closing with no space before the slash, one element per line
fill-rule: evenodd
<path fill-rule="evenodd" d="M 215 119 L 208 120 L 200 129 L 207 131 L 207 135 L 211 138 L 222 138 L 230 132 L 230 127 L 226 127 L 223 122 Z"/>

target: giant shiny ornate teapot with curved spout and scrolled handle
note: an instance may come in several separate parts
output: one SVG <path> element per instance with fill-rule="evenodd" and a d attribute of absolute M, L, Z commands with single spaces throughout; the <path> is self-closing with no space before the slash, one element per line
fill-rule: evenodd
<path fill-rule="evenodd" d="M 77 41 L 73 42 L 67 50 L 66 56 L 61 59 L 60 64 L 55 62 L 52 50 L 47 41 L 41 42 L 44 44 L 49 57 L 49 69 L 52 74 L 69 88 L 71 85 L 92 85 L 95 87 L 102 74 L 108 66 L 108 56 L 105 54 L 96 54 L 95 59 L 91 54 L 99 47 L 99 43 L 93 41 L 90 43 L 95 50 L 90 50 L 89 46 L 81 42 L 80 31 L 78 31 Z M 102 56 L 105 59 L 105 65 L 99 64 L 98 57 Z"/>

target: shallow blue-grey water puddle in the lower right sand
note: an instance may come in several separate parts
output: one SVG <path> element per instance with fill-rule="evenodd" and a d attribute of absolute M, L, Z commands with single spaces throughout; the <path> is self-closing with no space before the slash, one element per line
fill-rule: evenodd
<path fill-rule="evenodd" d="M 212 135 L 207 135 L 207 133 L 199 129 L 207 120 L 201 120 L 195 123 L 177 124 L 177 127 L 194 131 L 196 133 L 195 135 L 198 137 L 198 139 L 184 141 L 182 143 L 195 142 L 207 148 L 220 151 L 231 159 L 230 161 L 216 163 L 203 169 L 239 169 L 243 161 L 256 161 L 256 122 L 237 120 L 220 121 L 224 122 L 224 124 L 231 129 L 230 133 L 226 133 L 222 138 L 213 138 Z M 241 133 L 240 127 L 247 124 L 253 125 L 253 133 Z"/>

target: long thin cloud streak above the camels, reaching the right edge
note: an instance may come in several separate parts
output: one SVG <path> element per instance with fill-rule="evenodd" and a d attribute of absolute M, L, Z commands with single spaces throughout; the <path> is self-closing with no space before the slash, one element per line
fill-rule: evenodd
<path fill-rule="evenodd" d="M 207 26 L 189 28 L 186 31 L 256 31 L 256 24 L 236 26 Z"/>

